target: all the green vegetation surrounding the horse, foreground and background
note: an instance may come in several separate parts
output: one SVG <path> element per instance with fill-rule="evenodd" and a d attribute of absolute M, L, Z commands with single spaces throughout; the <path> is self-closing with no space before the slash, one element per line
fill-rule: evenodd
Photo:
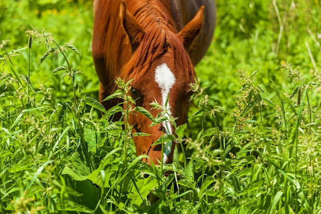
<path fill-rule="evenodd" d="M 188 125 L 160 166 L 109 122 L 129 110 L 100 118 L 91 5 L 0 3 L 1 214 L 321 213 L 319 1 L 217 2 Z"/>

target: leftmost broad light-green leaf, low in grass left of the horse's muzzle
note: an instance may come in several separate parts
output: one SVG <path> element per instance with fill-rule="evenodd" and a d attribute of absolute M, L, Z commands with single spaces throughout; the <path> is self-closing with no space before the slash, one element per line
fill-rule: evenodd
<path fill-rule="evenodd" d="M 75 181 L 85 181 L 90 174 L 89 167 L 79 157 L 78 153 L 74 153 L 65 164 L 62 174 L 69 174 Z"/>

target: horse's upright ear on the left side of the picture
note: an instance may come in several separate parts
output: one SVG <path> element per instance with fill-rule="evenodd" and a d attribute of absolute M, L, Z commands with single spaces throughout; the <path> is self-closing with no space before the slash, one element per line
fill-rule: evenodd
<path fill-rule="evenodd" d="M 134 52 L 143 40 L 145 32 L 136 18 L 128 11 L 125 1 L 121 2 L 121 20 Z"/>

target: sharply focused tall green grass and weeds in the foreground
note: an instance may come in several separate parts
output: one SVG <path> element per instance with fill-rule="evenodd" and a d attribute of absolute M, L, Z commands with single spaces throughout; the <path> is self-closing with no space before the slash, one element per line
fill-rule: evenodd
<path fill-rule="evenodd" d="M 27 35 L 27 49 L 8 50 L 8 41 L 1 45 L 1 213 L 321 212 L 320 105 L 311 105 L 321 85 L 316 70 L 314 82 L 307 83 L 300 68 L 283 65 L 288 72 L 284 78 L 300 86 L 281 91 L 271 83 L 273 99 L 256 83 L 257 71 L 249 75 L 239 70 L 241 88 L 232 110 L 212 106 L 204 89 L 191 85 L 198 110 L 188 121 L 209 116 L 212 127 L 185 141 L 193 149 L 188 159 L 183 148 L 186 125 L 177 127 L 173 164 L 148 166 L 135 156 L 131 127 L 109 122 L 114 113 L 128 116 L 129 110 L 104 110 L 76 81 L 81 72 L 70 67 L 66 52 L 78 53 L 76 47 L 56 44 L 50 33 L 37 29 Z M 15 70 L 12 57 L 23 51 L 32 55 L 35 40 L 48 47 L 39 67 L 50 63 L 50 54 L 64 58 L 64 65 L 52 73 L 68 77 L 70 98 L 54 102 L 54 88 L 33 88 L 32 80 Z M 126 92 L 128 83 L 118 85 L 110 98 L 134 102 Z M 93 118 L 95 109 L 105 111 L 102 119 Z M 144 109 L 134 110 L 151 117 Z M 222 112 L 234 120 L 225 129 L 217 126 L 216 114 Z M 270 118 L 277 125 L 266 126 Z M 151 119 L 163 120 L 162 115 Z M 164 176 L 166 171 L 173 173 Z M 150 192 L 159 198 L 153 204 Z"/>

